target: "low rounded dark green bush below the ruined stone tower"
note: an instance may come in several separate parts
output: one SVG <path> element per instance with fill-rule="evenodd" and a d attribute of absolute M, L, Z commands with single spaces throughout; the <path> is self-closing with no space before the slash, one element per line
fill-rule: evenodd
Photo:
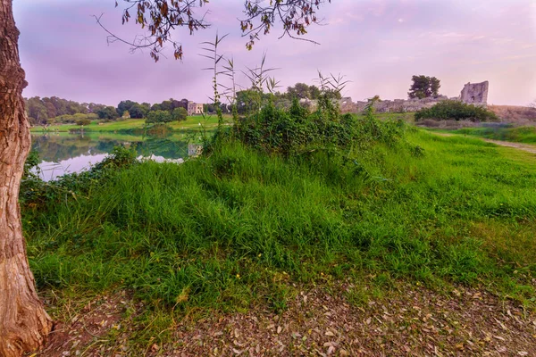
<path fill-rule="evenodd" d="M 480 106 L 448 100 L 415 112 L 416 121 L 424 119 L 495 121 L 498 120 L 498 116 Z"/>

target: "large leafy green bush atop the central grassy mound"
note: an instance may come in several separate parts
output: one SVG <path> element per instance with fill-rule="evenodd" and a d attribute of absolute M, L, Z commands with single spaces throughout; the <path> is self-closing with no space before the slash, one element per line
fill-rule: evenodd
<path fill-rule="evenodd" d="M 228 129 L 249 147 L 266 153 L 289 157 L 311 151 L 369 147 L 374 142 L 394 145 L 403 136 L 404 122 L 377 120 L 372 105 L 364 117 L 352 114 L 340 115 L 339 108 L 331 100 L 320 100 L 319 107 L 310 113 L 297 100 L 288 110 L 276 108 L 272 103 L 263 109 L 241 118 L 237 125 Z M 222 133 L 217 133 L 218 140 Z"/>

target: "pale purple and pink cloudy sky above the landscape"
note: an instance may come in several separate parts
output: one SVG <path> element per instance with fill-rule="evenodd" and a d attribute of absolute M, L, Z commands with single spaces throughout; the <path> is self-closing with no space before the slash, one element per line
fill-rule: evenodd
<path fill-rule="evenodd" d="M 121 8 L 121 1 L 120 8 Z M 373 95 L 406 98 L 414 74 L 441 80 L 441 94 L 456 96 L 465 83 L 490 81 L 490 104 L 526 105 L 536 99 L 536 1 L 534 0 L 332 0 L 321 11 L 326 26 L 309 28 L 320 46 L 273 29 L 252 51 L 240 37 L 243 0 L 213 0 L 213 26 L 194 36 L 179 30 L 183 62 L 155 63 L 145 53 L 110 46 L 93 14 L 113 32 L 132 39 L 141 29 L 121 26 L 113 0 L 15 0 L 21 30 L 21 62 L 29 87 L 25 96 L 57 95 L 79 102 L 117 105 L 123 99 L 161 102 L 170 97 L 207 102 L 211 63 L 199 43 L 216 30 L 230 33 L 222 51 L 235 66 L 254 67 L 267 53 L 281 89 L 313 83 L 317 70 L 341 73 L 352 82 L 343 95 L 355 101 Z M 243 76 L 239 83 L 247 85 Z"/>

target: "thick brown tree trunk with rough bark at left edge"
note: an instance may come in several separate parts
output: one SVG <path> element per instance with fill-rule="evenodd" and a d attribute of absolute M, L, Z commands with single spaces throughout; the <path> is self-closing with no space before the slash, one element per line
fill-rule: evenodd
<path fill-rule="evenodd" d="M 52 328 L 22 237 L 19 187 L 30 135 L 18 39 L 12 0 L 0 0 L 0 356 L 5 357 L 38 349 Z"/>

